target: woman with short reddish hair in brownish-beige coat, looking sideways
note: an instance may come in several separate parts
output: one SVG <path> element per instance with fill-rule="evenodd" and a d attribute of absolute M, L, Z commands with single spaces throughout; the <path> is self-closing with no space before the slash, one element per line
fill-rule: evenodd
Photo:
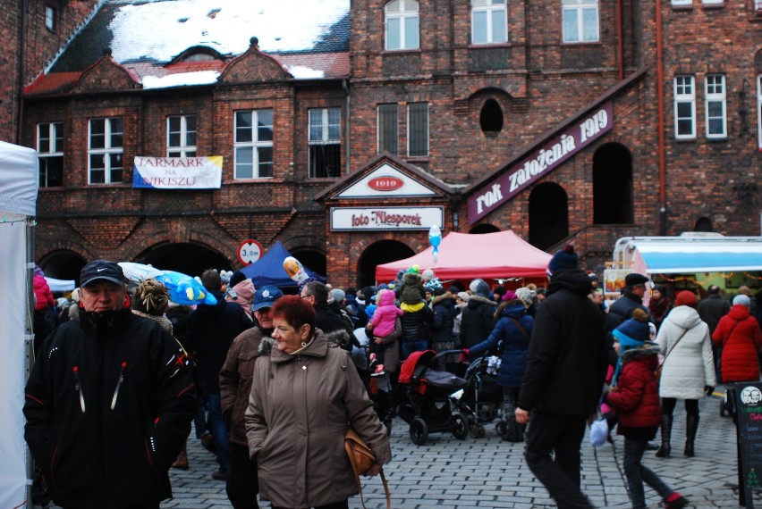
<path fill-rule="evenodd" d="M 358 486 L 344 433 L 351 425 L 372 449 L 375 475 L 392 457 L 386 429 L 350 356 L 315 328 L 312 305 L 284 296 L 272 316 L 275 344 L 254 367 L 245 416 L 260 496 L 274 508 L 347 508 Z"/>

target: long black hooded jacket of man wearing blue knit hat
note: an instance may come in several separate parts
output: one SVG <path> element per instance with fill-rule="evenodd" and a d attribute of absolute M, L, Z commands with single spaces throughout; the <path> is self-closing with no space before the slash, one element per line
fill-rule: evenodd
<path fill-rule="evenodd" d="M 607 349 L 605 318 L 588 298 L 585 271 L 557 271 L 535 316 L 519 407 L 589 415 L 601 396 Z"/>

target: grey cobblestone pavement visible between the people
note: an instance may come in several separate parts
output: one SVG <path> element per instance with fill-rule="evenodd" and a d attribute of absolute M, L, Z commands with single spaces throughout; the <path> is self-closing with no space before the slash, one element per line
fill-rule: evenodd
<path fill-rule="evenodd" d="M 718 389 L 720 390 L 720 389 Z M 719 400 L 700 403 L 696 456 L 682 455 L 685 439 L 685 410 L 675 410 L 673 457 L 659 459 L 648 451 L 644 459 L 670 486 L 690 499 L 691 507 L 738 507 L 735 427 L 719 415 Z M 191 435 L 191 437 L 194 437 Z M 582 443 L 582 487 L 597 507 L 631 507 L 622 471 L 622 437 L 614 446 L 594 448 L 588 438 Z M 162 508 L 229 508 L 224 482 L 212 480 L 214 455 L 189 440 L 190 470 L 171 472 L 174 499 Z M 523 444 L 504 442 L 487 424 L 485 438 L 454 438 L 450 433 L 432 433 L 423 446 L 411 442 L 409 426 L 395 419 L 392 426 L 394 459 L 385 466 L 394 508 L 545 508 L 555 507 L 543 486 L 535 480 L 523 460 Z M 363 494 L 368 509 L 385 507 L 379 478 L 364 478 Z M 656 492 L 646 488 L 649 508 L 661 506 Z M 762 494 L 755 505 L 762 506 Z M 269 507 L 261 502 L 261 507 Z M 350 500 L 360 508 L 360 497 Z"/>

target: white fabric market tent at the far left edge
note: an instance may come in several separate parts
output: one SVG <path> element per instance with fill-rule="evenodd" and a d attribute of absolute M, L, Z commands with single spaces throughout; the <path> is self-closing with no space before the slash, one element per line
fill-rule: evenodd
<path fill-rule="evenodd" d="M 31 344 L 31 217 L 38 191 L 37 153 L 0 141 L 0 507 L 27 504 L 24 384 Z M 23 298 L 22 296 L 26 296 Z"/>

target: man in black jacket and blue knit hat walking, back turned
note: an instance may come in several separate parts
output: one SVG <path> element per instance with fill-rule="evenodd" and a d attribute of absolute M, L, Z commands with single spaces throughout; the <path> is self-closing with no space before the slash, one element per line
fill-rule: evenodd
<path fill-rule="evenodd" d="M 580 444 L 605 378 L 604 314 L 588 298 L 592 284 L 572 246 L 548 265 L 516 421 L 531 421 L 524 457 L 560 508 L 592 507 L 580 491 Z"/>

